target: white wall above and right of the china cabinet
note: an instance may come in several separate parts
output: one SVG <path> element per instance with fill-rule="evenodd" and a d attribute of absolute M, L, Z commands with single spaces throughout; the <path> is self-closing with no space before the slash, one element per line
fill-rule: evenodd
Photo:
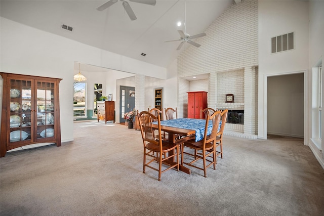
<path fill-rule="evenodd" d="M 3 17 L 0 22 L 1 71 L 63 78 L 59 85 L 62 142 L 73 140 L 74 61 L 162 79 L 167 77 L 166 68 L 90 47 Z"/>

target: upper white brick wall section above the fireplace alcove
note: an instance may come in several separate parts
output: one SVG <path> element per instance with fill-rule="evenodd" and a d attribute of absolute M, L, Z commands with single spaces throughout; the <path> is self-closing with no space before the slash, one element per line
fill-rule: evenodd
<path fill-rule="evenodd" d="M 178 57 L 179 77 L 258 65 L 258 1 L 233 3 L 205 32 Z"/>

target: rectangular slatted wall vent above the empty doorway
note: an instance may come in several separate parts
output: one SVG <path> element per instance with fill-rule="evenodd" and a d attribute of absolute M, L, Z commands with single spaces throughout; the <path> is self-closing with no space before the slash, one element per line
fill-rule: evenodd
<path fill-rule="evenodd" d="M 294 50 L 294 32 L 271 37 L 271 53 Z"/>

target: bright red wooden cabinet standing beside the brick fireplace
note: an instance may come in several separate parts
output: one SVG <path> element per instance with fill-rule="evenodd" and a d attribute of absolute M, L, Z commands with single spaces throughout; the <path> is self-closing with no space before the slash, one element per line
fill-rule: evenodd
<path fill-rule="evenodd" d="M 207 92 L 188 92 L 188 118 L 200 118 L 200 110 L 207 108 Z M 205 118 L 205 115 L 201 116 Z"/>

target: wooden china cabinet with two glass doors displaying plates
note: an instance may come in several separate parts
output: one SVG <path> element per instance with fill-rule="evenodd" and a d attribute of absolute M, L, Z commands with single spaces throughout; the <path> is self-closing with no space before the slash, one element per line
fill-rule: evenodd
<path fill-rule="evenodd" d="M 62 79 L 0 72 L 3 78 L 1 157 L 34 143 L 61 146 L 59 82 Z"/>

